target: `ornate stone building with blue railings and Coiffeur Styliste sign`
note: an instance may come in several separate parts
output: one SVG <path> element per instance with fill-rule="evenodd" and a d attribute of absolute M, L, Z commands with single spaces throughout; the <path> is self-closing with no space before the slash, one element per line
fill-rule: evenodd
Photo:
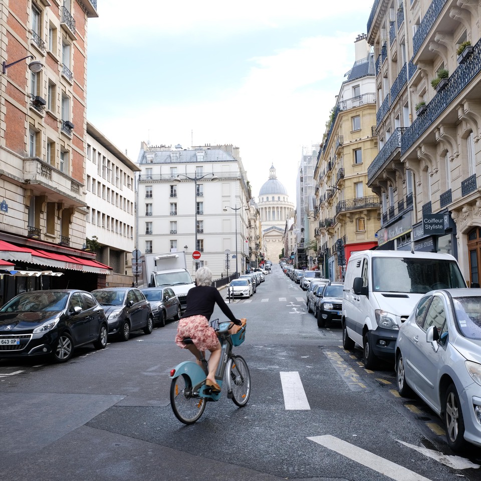
<path fill-rule="evenodd" d="M 379 137 L 368 184 L 382 199 L 379 246 L 453 254 L 476 283 L 479 15 L 476 2 L 378 0 L 368 22 Z M 423 219 L 436 217 L 440 228 L 432 235 Z"/>

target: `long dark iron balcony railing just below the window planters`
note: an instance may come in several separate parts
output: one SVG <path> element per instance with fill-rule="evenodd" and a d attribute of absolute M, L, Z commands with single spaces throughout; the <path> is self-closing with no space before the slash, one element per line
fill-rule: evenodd
<path fill-rule="evenodd" d="M 481 71 L 481 40 L 473 48 L 471 56 L 450 75 L 447 87 L 438 92 L 426 105 L 426 111 L 407 128 L 401 139 L 401 154 L 409 150 L 421 135 L 437 121 L 438 117 L 462 93 Z M 456 99 L 460 103 L 462 99 Z"/>

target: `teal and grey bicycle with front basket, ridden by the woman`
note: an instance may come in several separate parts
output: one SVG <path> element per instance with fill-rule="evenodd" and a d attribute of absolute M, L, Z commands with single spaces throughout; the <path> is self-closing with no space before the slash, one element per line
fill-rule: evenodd
<path fill-rule="evenodd" d="M 240 346 L 246 336 L 246 323 L 238 326 L 238 331 L 230 333 L 232 322 L 211 322 L 221 345 L 220 362 L 215 373 L 217 383 L 222 387 L 224 373 L 227 372 L 227 398 L 243 407 L 251 395 L 251 375 L 245 359 L 232 353 L 232 346 Z M 193 344 L 192 339 L 184 339 L 184 343 Z M 220 392 L 212 392 L 205 384 L 208 373 L 205 357 L 200 359 L 202 367 L 194 361 L 183 361 L 170 371 L 170 405 L 175 417 L 184 424 L 193 424 L 204 412 L 208 401 L 218 401 Z"/>

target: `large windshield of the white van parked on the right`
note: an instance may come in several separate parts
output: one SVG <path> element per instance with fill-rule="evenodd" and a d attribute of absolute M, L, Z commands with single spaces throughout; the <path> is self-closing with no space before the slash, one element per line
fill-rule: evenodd
<path fill-rule="evenodd" d="M 466 287 L 458 265 L 444 259 L 374 258 L 372 279 L 374 292 L 425 294 Z"/>

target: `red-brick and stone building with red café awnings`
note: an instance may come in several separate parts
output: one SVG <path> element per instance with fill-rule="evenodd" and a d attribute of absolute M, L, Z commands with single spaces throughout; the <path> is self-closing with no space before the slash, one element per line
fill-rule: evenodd
<path fill-rule="evenodd" d="M 6 0 L 0 16 L 0 302 L 105 284 L 85 252 L 86 32 L 95 0 Z"/>

